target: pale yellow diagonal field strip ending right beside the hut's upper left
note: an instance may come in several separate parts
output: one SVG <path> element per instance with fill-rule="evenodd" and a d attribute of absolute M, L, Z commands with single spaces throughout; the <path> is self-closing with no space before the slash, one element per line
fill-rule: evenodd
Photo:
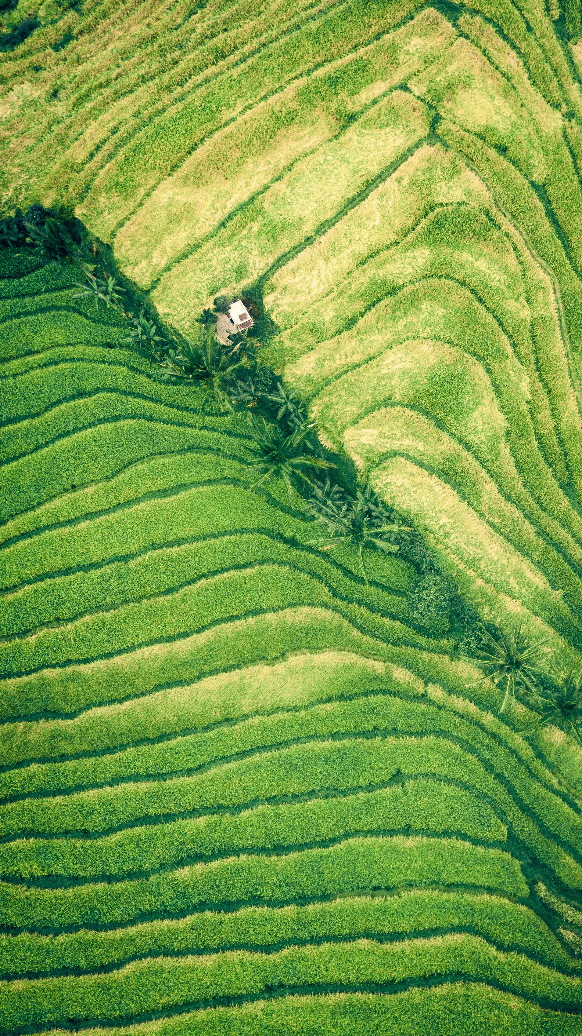
<path fill-rule="evenodd" d="M 421 139 L 429 124 L 429 113 L 412 94 L 395 91 L 381 99 L 165 274 L 152 294 L 162 315 L 192 330 L 214 294 L 239 291 L 265 274 L 279 256 L 332 218 Z"/>

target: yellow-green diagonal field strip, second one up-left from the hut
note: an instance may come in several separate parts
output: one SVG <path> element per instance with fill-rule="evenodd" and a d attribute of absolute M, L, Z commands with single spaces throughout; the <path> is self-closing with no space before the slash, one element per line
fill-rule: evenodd
<path fill-rule="evenodd" d="M 396 32 L 292 83 L 220 131 L 163 180 L 118 232 L 116 256 L 124 271 L 148 287 L 229 212 L 338 133 L 338 116 L 344 111 L 357 113 L 434 60 L 454 38 L 444 19 L 423 11 Z M 363 62 L 369 83 L 357 90 Z M 342 92 L 333 90 L 330 106 L 327 84 L 340 75 Z"/>

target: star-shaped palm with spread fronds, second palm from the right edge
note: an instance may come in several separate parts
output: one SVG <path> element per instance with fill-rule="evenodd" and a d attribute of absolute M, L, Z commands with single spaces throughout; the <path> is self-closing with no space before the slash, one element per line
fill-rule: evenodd
<path fill-rule="evenodd" d="M 495 636 L 482 627 L 482 640 L 484 646 L 478 656 L 464 657 L 464 661 L 471 662 L 487 672 L 481 680 L 467 684 L 467 687 L 476 687 L 485 680 L 491 680 L 503 692 L 503 701 L 499 710 L 501 713 L 514 704 L 518 694 L 524 695 L 529 703 L 537 701 L 540 698 L 537 678 L 547 675 L 540 664 L 544 657 L 541 649 L 550 637 L 530 643 L 522 633 L 521 620 L 518 620 L 510 633 L 504 633 L 497 626 Z"/>

